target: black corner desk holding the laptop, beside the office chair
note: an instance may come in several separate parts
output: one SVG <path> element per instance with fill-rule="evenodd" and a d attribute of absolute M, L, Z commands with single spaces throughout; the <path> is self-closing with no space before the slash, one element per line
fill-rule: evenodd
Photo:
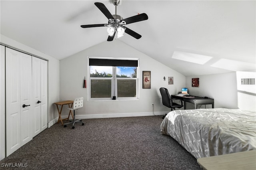
<path fill-rule="evenodd" d="M 214 99 L 211 98 L 204 98 L 199 96 L 194 96 L 193 98 L 186 98 L 176 95 L 171 95 L 171 98 L 184 101 L 184 110 L 186 110 L 186 102 L 193 103 L 195 105 L 195 109 L 197 109 L 197 105 L 212 105 L 212 108 L 214 108 Z"/>

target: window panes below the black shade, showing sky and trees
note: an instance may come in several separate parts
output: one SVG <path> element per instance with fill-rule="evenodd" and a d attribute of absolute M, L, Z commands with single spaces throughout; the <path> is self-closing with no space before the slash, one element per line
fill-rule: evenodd
<path fill-rule="evenodd" d="M 137 67 L 90 66 L 90 99 L 138 99 Z"/>

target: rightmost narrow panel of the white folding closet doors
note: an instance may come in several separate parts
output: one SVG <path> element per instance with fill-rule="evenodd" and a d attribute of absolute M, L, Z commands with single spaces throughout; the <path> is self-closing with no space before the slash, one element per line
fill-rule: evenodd
<path fill-rule="evenodd" d="M 41 131 L 48 125 L 48 62 L 41 59 Z"/>

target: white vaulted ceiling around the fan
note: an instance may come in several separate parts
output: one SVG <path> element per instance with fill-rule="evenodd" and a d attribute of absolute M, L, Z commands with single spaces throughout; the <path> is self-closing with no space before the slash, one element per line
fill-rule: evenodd
<path fill-rule="evenodd" d="M 104 3 L 111 14 L 115 13 L 110 0 L 1 0 L 0 32 L 63 59 L 107 40 L 104 27 L 80 27 L 108 23 L 94 2 Z M 146 13 L 148 20 L 127 27 L 142 38 L 124 34 L 118 41 L 186 76 L 255 69 L 255 0 L 122 0 L 117 6 L 117 14 L 123 18 L 138 13 Z M 174 51 L 187 54 L 184 58 L 188 61 L 172 58 Z M 194 54 L 210 60 L 190 62 Z"/>

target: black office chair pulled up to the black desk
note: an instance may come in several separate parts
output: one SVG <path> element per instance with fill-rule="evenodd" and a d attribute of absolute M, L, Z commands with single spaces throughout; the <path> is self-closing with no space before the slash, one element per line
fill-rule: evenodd
<path fill-rule="evenodd" d="M 171 108 L 171 111 L 175 110 L 175 108 L 182 108 L 183 107 L 182 100 L 172 99 L 169 92 L 168 92 L 168 89 L 166 89 L 164 87 L 161 87 L 160 88 L 160 93 L 161 93 L 161 96 L 162 96 L 163 105 L 166 106 L 166 107 Z M 175 103 L 174 100 L 179 100 L 181 102 L 181 104 Z M 165 116 L 166 115 L 167 114 L 165 114 Z M 163 119 L 164 119 L 165 116 L 163 116 Z"/>

